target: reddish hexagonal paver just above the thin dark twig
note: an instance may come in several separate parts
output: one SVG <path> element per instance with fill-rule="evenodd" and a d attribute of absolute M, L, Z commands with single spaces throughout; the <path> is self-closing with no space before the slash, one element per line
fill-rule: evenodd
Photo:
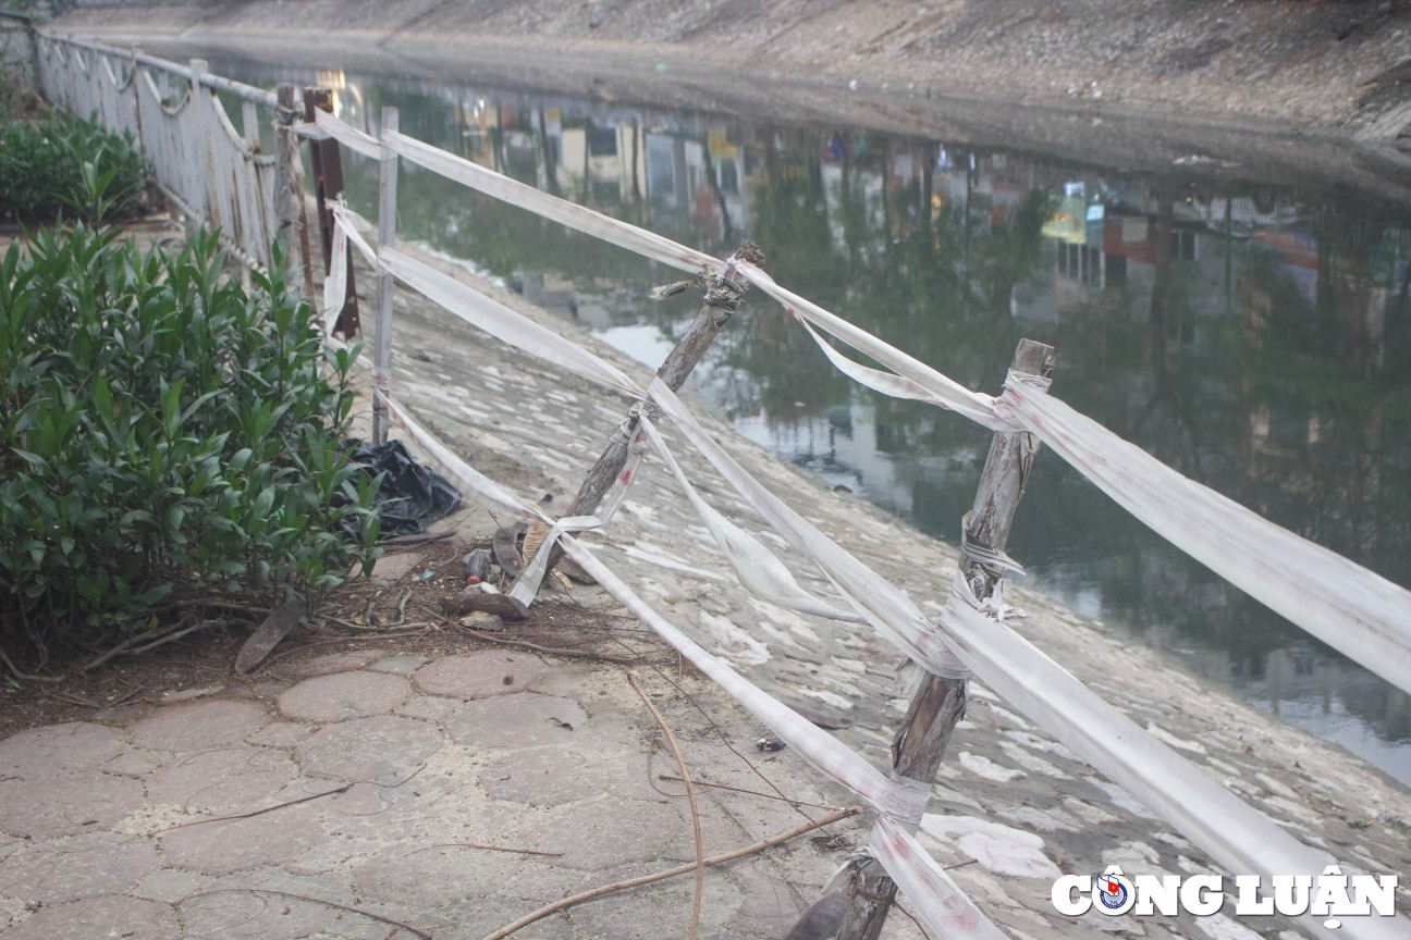
<path fill-rule="evenodd" d="M 258 806 L 298 775 L 284 753 L 264 747 L 200 751 L 157 771 L 148 798 L 189 813 L 229 813 Z"/>

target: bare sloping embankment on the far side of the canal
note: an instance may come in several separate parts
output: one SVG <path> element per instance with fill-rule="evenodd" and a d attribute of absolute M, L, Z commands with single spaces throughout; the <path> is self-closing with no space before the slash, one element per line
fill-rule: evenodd
<path fill-rule="evenodd" d="M 247 0 L 85 6 L 59 27 L 302 59 L 341 45 L 453 72 L 696 87 L 706 100 L 824 86 L 1380 140 L 1411 124 L 1411 4 L 1376 0 Z"/>

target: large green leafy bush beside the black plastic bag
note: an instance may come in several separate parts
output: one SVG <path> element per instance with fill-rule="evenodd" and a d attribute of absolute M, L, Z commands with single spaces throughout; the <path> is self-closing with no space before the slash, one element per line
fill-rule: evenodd
<path fill-rule="evenodd" d="M 174 588 L 310 595 L 374 557 L 351 354 L 282 265 L 247 293 L 222 264 L 214 235 L 141 254 L 82 224 L 6 252 L 0 634 L 121 633 Z"/>

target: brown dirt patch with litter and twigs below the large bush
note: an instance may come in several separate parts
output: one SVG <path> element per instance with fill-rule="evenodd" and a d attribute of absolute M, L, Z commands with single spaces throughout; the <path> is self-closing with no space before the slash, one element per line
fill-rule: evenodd
<path fill-rule="evenodd" d="M 484 544 L 488 547 L 488 541 Z M 95 658 L 92 651 L 63 653 L 42 669 L 48 679 L 58 681 L 16 679 L 6 671 L 0 675 L 0 740 L 44 724 L 126 720 L 140 709 L 216 692 L 258 698 L 271 681 L 303 675 L 312 661 L 337 654 L 435 658 L 514 647 L 550 658 L 608 665 L 626 661 L 697 675 L 655 633 L 611 600 L 604 602 L 595 588 L 574 586 L 569 593 L 555 582 L 525 620 L 504 623 L 494 631 L 444 616 L 442 600 L 460 592 L 463 558 L 474 547 L 443 540 L 391 548 L 385 558 L 416 564 L 396 578 L 354 578 L 330 592 L 317 613 L 250 675 L 236 675 L 236 654 L 262 614 L 195 605 L 192 616 L 209 617 L 217 626 L 144 654 L 114 657 L 87 672 L 83 667 Z M 21 671 L 34 668 L 17 665 Z"/>

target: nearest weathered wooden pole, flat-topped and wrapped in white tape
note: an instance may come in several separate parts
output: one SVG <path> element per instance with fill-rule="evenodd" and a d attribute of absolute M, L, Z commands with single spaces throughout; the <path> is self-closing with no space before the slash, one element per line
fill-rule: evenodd
<path fill-rule="evenodd" d="M 1047 379 L 1053 375 L 1053 347 L 1020 340 L 1010 369 Z M 1027 431 L 996 431 L 991 440 L 975 505 L 965 523 L 965 541 L 981 554 L 1005 550 L 1015 509 L 1024 495 L 1029 468 L 1037 452 L 1038 440 Z M 969 551 L 961 554 L 959 568 L 979 600 L 991 596 L 1005 575 L 1002 568 L 976 559 Z M 926 675 L 892 740 L 892 767 L 897 774 L 927 786 L 935 779 L 951 733 L 965 717 L 967 685 L 967 679 Z M 896 884 L 880 864 L 872 860 L 855 862 L 848 889 L 849 905 L 838 940 L 876 940 L 895 898 Z"/>

